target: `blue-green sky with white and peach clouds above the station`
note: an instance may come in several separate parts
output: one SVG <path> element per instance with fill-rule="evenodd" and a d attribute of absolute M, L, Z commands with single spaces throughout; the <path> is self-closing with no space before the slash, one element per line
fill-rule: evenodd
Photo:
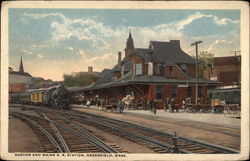
<path fill-rule="evenodd" d="M 9 66 L 54 81 L 63 74 L 112 68 L 131 29 L 136 48 L 150 40 L 180 40 L 195 55 L 234 55 L 240 49 L 240 10 L 9 9 Z"/>

